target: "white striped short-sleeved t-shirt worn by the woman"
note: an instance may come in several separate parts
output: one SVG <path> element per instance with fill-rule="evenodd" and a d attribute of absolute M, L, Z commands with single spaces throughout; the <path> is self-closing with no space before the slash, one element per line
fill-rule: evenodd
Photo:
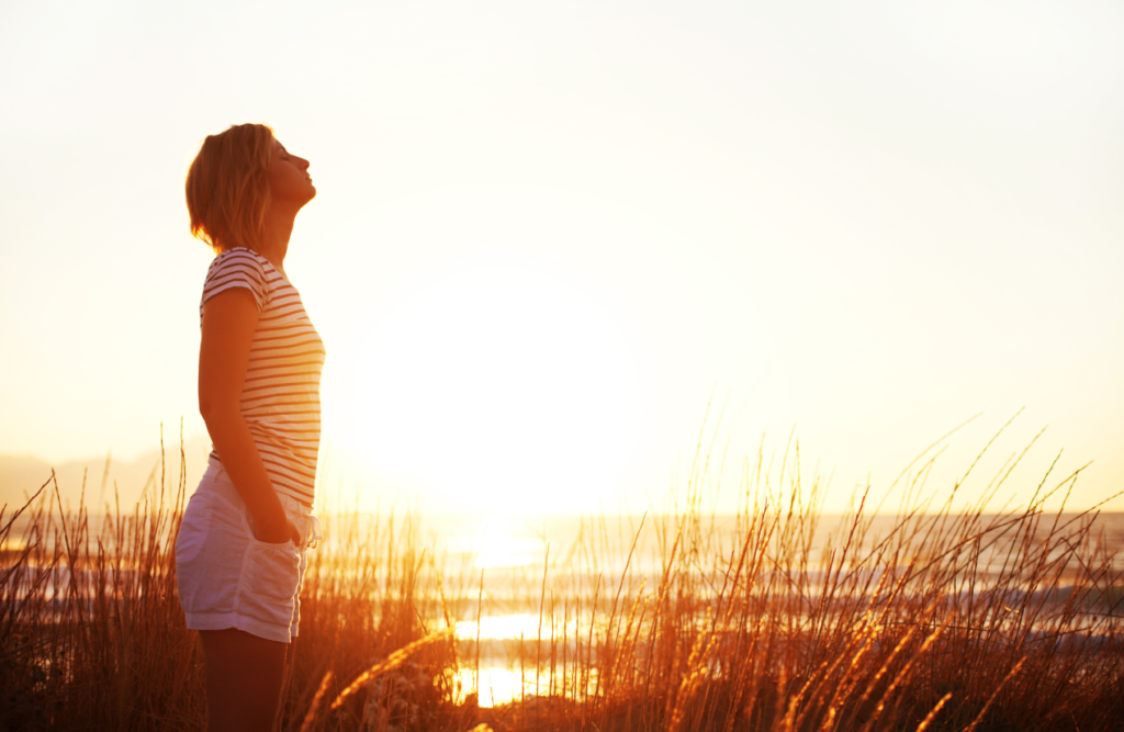
<path fill-rule="evenodd" d="M 207 300 L 235 287 L 250 290 L 259 311 L 242 387 L 242 415 L 273 488 L 311 506 L 320 446 L 324 342 L 297 288 L 264 256 L 242 247 L 223 252 L 207 270 L 200 324 Z M 208 462 L 223 467 L 214 450 Z"/>

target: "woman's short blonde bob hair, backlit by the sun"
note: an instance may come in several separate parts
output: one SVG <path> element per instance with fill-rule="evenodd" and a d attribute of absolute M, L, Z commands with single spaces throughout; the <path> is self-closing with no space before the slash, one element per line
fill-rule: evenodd
<path fill-rule="evenodd" d="M 192 236 L 215 253 L 259 247 L 270 207 L 273 129 L 265 125 L 234 125 L 207 136 L 184 184 Z"/>

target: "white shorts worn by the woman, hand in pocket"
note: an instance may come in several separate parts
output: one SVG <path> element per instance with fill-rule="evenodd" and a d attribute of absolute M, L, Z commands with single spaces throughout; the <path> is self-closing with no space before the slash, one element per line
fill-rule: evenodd
<path fill-rule="evenodd" d="M 229 476 L 207 468 L 175 540 L 176 587 L 189 629 L 235 627 L 282 643 L 297 636 L 301 581 L 308 549 L 320 539 L 320 522 L 300 501 L 279 498 L 300 531 L 299 548 L 291 541 L 257 541 Z"/>

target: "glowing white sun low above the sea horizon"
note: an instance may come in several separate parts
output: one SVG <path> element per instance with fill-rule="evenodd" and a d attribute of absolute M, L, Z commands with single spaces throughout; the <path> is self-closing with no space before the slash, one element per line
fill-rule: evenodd
<path fill-rule="evenodd" d="M 441 513 L 577 513 L 619 491 L 637 359 L 605 297 L 544 268 L 434 275 L 374 318 L 333 391 L 339 442 Z"/>

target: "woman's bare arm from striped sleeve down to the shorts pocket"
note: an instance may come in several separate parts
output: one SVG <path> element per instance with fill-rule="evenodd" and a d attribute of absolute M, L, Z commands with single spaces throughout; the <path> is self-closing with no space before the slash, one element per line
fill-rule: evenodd
<path fill-rule="evenodd" d="M 242 386 L 255 327 L 257 306 L 250 290 L 233 288 L 207 300 L 199 344 L 199 413 L 223 468 L 254 517 L 257 540 L 281 544 L 292 539 L 300 544 L 300 532 L 285 516 L 242 416 Z"/>

